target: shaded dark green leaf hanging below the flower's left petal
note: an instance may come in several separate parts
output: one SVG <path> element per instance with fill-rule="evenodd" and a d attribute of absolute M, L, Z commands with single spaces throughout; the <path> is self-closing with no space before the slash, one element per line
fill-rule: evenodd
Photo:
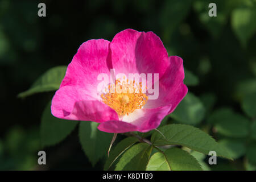
<path fill-rule="evenodd" d="M 65 139 L 76 127 L 77 121 L 70 121 L 53 117 L 51 114 L 51 102 L 43 111 L 40 138 L 43 146 L 51 146 Z"/>

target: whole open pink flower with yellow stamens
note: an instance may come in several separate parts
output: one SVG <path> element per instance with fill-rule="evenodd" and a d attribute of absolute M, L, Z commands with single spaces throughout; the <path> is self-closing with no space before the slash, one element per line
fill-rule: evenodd
<path fill-rule="evenodd" d="M 139 89 L 136 93 L 98 90 L 98 75 L 105 73 L 111 78 L 111 69 L 115 75 L 125 73 L 127 77 L 129 73 L 151 73 L 152 80 L 158 73 L 159 80 L 152 81 L 152 88 L 158 86 L 158 97 L 149 99 L 150 94 L 142 92 L 141 82 L 128 83 L 129 88 Z M 108 133 L 147 132 L 158 127 L 187 94 L 183 79 L 183 60 L 168 57 L 158 36 L 153 32 L 123 30 L 112 42 L 88 40 L 80 46 L 52 99 L 52 115 L 98 122 L 98 129 Z M 115 86 L 123 83 L 114 81 Z M 105 86 L 110 88 L 113 84 Z"/>

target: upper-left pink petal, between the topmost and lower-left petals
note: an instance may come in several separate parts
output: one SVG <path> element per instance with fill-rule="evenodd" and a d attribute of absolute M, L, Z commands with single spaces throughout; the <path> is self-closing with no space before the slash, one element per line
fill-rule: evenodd
<path fill-rule="evenodd" d="M 110 56 L 108 40 L 88 40 L 83 43 L 68 65 L 60 88 L 67 85 L 80 87 L 90 96 L 100 99 L 97 85 L 101 81 L 98 81 L 97 77 L 100 73 L 110 75 L 112 68 Z"/>

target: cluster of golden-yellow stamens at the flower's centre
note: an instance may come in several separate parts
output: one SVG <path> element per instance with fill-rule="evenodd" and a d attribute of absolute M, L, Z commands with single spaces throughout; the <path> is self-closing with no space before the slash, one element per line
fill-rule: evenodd
<path fill-rule="evenodd" d="M 134 82 L 116 80 L 115 84 L 109 85 L 109 93 L 101 94 L 102 101 L 114 109 L 119 116 L 129 115 L 134 110 L 141 109 L 148 97 L 142 93 L 141 82 L 139 85 Z"/>

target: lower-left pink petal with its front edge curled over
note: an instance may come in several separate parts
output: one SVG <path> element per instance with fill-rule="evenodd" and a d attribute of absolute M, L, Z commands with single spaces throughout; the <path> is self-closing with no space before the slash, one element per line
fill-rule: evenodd
<path fill-rule="evenodd" d="M 108 105 L 95 100 L 85 90 L 63 86 L 55 93 L 51 105 L 52 115 L 61 119 L 105 122 L 118 120 L 117 113 Z"/>

